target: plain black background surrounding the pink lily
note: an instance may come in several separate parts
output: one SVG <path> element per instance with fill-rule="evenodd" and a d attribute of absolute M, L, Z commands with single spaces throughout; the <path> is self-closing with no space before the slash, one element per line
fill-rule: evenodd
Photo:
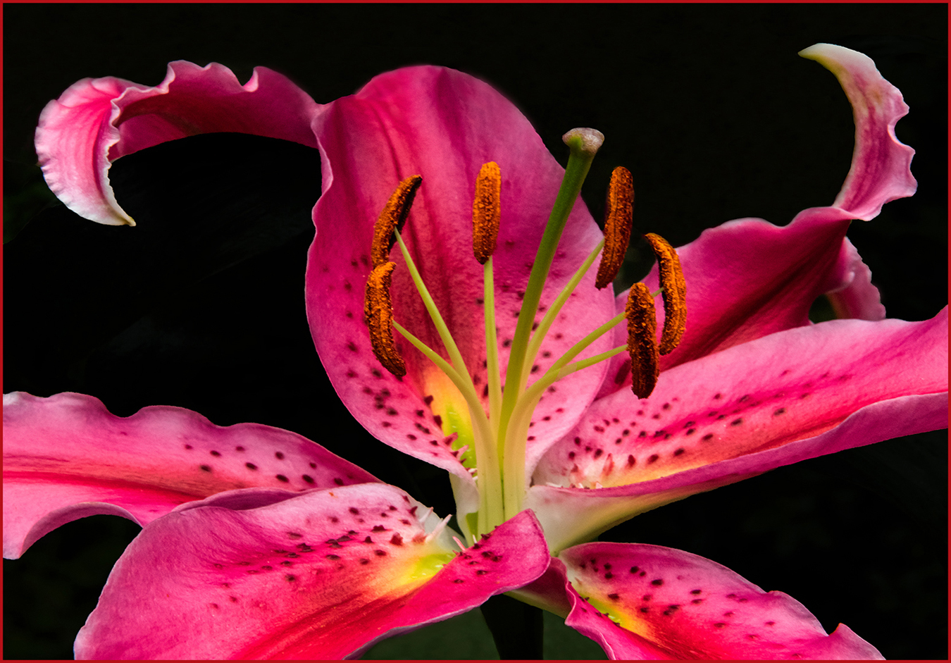
<path fill-rule="evenodd" d="M 4 391 L 281 426 L 451 513 L 444 473 L 372 439 L 314 352 L 302 278 L 316 150 L 234 135 L 143 150 L 111 171 L 138 225 L 91 224 L 49 200 L 35 166 L 32 130 L 49 99 L 87 76 L 156 85 L 174 59 L 223 63 L 242 82 L 274 68 L 320 103 L 384 70 L 458 68 L 511 98 L 562 163 L 564 131 L 603 131 L 584 189 L 595 218 L 611 168 L 628 166 L 635 233 L 678 245 L 729 219 L 786 224 L 832 202 L 851 113 L 835 78 L 796 53 L 841 44 L 870 55 L 911 107 L 897 133 L 918 150 L 919 192 L 849 236 L 889 316 L 923 320 L 947 301 L 946 26 L 945 5 L 911 4 L 5 5 L 5 240 L 15 237 Z M 638 244 L 629 258 L 623 286 L 650 266 Z M 946 476 L 945 432 L 896 439 L 690 497 L 601 538 L 708 556 L 888 658 L 943 659 Z M 5 560 L 4 656 L 70 656 L 137 530 L 87 518 Z M 435 651 L 419 646 L 401 655 Z"/>

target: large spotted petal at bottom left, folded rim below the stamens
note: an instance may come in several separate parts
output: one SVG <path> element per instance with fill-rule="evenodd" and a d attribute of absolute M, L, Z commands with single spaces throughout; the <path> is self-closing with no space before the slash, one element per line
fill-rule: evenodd
<path fill-rule="evenodd" d="M 129 545 L 76 638 L 76 657 L 359 657 L 548 566 L 530 512 L 461 554 L 421 512 L 379 483 L 243 510 L 185 505 Z"/>

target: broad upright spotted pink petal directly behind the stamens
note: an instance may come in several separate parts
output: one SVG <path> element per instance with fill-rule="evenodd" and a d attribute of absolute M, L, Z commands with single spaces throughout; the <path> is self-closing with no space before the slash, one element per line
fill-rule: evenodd
<path fill-rule="evenodd" d="M 495 263 L 496 322 L 508 359 L 522 289 L 563 169 L 528 120 L 488 85 L 447 68 L 403 68 L 334 102 L 315 121 L 323 152 L 323 195 L 306 277 L 307 313 L 320 360 L 350 412 L 386 443 L 470 480 L 450 440 L 451 411 L 468 419 L 456 388 L 397 334 L 408 374 L 379 364 L 363 323 L 373 224 L 398 182 L 422 176 L 403 237 L 442 312 L 476 387 L 486 385 L 482 267 L 472 249 L 472 203 L 482 164 L 501 169 L 501 228 Z M 601 240 L 582 202 L 565 228 L 542 305 L 553 301 Z M 397 322 L 442 352 L 398 248 L 393 276 Z M 553 326 L 538 358 L 540 377 L 574 341 L 613 315 L 610 293 L 589 275 Z M 538 316 L 539 320 L 541 316 Z M 609 348 L 595 343 L 590 352 Z M 446 356 L 446 355 L 444 355 Z M 603 366 L 559 382 L 536 410 L 533 445 L 551 444 L 591 402 Z"/>

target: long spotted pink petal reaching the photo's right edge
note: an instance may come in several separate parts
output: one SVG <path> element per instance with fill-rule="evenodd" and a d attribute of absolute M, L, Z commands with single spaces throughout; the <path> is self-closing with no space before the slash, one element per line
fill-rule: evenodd
<path fill-rule="evenodd" d="M 557 551 L 781 465 L 944 428 L 947 380 L 947 307 L 735 345 L 664 372 L 650 399 L 596 400 L 539 463 L 526 506 Z"/>

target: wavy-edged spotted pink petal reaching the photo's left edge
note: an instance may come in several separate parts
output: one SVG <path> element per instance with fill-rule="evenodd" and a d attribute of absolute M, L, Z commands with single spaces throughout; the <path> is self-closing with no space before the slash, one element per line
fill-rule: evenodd
<path fill-rule="evenodd" d="M 216 426 L 179 407 L 115 417 L 91 396 L 4 395 L 4 556 L 77 518 L 146 525 L 238 488 L 301 492 L 377 481 L 319 444 L 257 423 Z"/>

